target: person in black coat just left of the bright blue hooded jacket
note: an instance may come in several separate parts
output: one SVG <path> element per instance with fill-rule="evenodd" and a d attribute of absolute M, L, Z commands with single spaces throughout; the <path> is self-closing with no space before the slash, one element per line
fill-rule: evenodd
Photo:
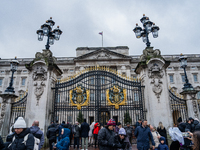
<path fill-rule="evenodd" d="M 58 134 L 58 128 L 56 124 L 51 124 L 47 130 L 47 138 L 49 139 L 49 148 L 52 150 L 52 143 L 56 143 L 56 135 Z"/>

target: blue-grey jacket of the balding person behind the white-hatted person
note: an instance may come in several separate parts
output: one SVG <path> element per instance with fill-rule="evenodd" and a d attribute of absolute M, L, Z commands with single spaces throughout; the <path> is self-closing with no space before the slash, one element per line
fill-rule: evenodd
<path fill-rule="evenodd" d="M 38 139 L 40 139 L 40 144 L 39 144 L 39 150 L 42 148 L 44 145 L 44 134 L 40 130 L 38 126 L 32 126 L 30 127 L 31 133 Z"/>

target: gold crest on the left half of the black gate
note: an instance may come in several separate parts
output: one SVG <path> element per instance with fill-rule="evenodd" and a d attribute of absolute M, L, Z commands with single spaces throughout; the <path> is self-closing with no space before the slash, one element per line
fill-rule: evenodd
<path fill-rule="evenodd" d="M 70 104 L 76 106 L 78 110 L 82 106 L 89 105 L 90 90 L 86 90 L 81 84 L 70 90 Z"/>

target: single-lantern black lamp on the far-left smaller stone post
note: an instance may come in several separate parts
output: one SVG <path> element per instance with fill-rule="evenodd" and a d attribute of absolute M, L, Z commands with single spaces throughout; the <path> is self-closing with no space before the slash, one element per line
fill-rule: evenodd
<path fill-rule="evenodd" d="M 10 62 L 10 67 L 11 67 L 10 70 L 12 71 L 12 76 L 11 76 L 11 79 L 10 79 L 9 87 L 7 87 L 7 89 L 5 90 L 5 92 L 15 93 L 14 88 L 12 87 L 13 86 L 13 75 L 14 75 L 14 72 L 17 71 L 18 64 L 19 64 L 19 62 L 18 62 L 18 60 L 17 60 L 16 57 L 15 57 L 14 60 L 12 60 Z"/>

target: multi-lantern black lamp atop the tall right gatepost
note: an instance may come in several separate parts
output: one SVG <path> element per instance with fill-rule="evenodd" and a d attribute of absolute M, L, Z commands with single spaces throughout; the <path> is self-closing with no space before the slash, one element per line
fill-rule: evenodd
<path fill-rule="evenodd" d="M 146 43 L 147 47 L 150 47 L 151 43 L 149 42 L 149 33 L 152 32 L 152 35 L 154 38 L 158 37 L 158 30 L 159 27 L 155 25 L 155 23 L 149 21 L 149 17 L 146 17 L 145 14 L 143 14 L 143 17 L 140 19 L 140 21 L 143 24 L 143 29 L 136 24 L 136 27 L 133 29 L 133 32 L 135 32 L 136 38 L 141 38 L 144 43 Z"/>

